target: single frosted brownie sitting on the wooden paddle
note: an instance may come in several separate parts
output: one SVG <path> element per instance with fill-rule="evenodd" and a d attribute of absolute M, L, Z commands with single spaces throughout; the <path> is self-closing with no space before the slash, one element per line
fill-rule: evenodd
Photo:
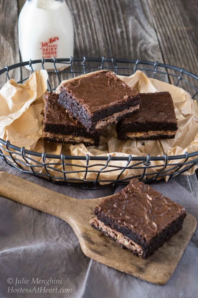
<path fill-rule="evenodd" d="M 149 185 L 132 179 L 95 207 L 91 226 L 146 258 L 182 229 L 186 210 Z"/>

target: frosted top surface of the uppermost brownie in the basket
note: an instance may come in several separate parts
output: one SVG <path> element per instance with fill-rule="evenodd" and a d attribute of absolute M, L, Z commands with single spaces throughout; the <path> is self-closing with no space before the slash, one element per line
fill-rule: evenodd
<path fill-rule="evenodd" d="M 62 88 L 64 87 L 91 112 L 107 105 L 116 105 L 139 94 L 109 70 L 75 78 L 63 84 Z"/>

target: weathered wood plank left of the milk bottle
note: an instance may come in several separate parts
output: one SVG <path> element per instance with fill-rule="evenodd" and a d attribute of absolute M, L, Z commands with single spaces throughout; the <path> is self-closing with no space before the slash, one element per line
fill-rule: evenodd
<path fill-rule="evenodd" d="M 17 0 L 0 1 L 0 69 L 19 61 L 18 49 L 18 7 Z M 9 76 L 20 80 L 20 69 L 9 71 Z M 6 75 L 0 76 L 0 87 L 6 83 Z"/>

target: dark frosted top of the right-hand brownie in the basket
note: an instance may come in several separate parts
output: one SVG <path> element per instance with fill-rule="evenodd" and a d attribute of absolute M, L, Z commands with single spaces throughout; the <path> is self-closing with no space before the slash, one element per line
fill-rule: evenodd
<path fill-rule="evenodd" d="M 169 92 L 140 93 L 139 110 L 122 120 L 122 124 L 134 122 L 173 122 L 177 124 L 173 100 Z"/>

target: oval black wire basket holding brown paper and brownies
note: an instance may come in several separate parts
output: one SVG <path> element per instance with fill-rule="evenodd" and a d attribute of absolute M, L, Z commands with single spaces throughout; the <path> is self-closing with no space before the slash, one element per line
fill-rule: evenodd
<path fill-rule="evenodd" d="M 9 72 L 12 69 L 20 68 L 21 74 L 24 66 L 29 65 L 31 71 L 34 71 L 34 64 L 40 63 L 42 69 L 45 62 L 52 64 L 52 70 L 48 71 L 48 91 L 53 92 L 63 79 L 69 79 L 81 74 L 100 70 L 110 69 L 117 75 L 129 76 L 142 70 L 149 77 L 158 78 L 159 80 L 168 81 L 169 83 L 178 86 L 179 84 L 186 90 L 191 91 L 191 96 L 196 99 L 198 94 L 198 76 L 185 69 L 171 66 L 163 63 L 142 61 L 142 60 L 122 60 L 114 58 L 66 58 L 66 59 L 40 59 L 30 60 L 27 62 L 17 63 L 11 66 L 5 66 L 0 70 L 0 75 L 6 75 L 6 79 L 10 79 Z M 66 69 L 57 69 L 56 63 L 68 64 Z M 27 71 L 25 72 L 27 73 Z M 30 73 L 31 74 L 31 73 Z M 152 74 L 152 75 L 150 75 Z M 56 80 L 54 77 L 56 76 Z M 18 83 L 23 83 L 29 77 L 23 78 Z M 54 86 L 55 85 L 55 86 Z M 186 86 L 186 88 L 185 88 Z M 170 179 L 176 175 L 180 175 L 193 166 L 198 164 L 198 151 L 193 153 L 186 152 L 184 155 L 178 156 L 164 156 L 156 157 L 147 155 L 147 157 L 98 157 L 98 156 L 65 156 L 52 155 L 46 153 L 38 153 L 26 150 L 24 147 L 19 148 L 12 145 L 9 141 L 0 139 L 0 158 L 3 159 L 12 168 L 19 170 L 23 173 L 29 173 L 39 178 L 46 179 L 53 183 L 81 186 L 84 189 L 97 189 L 110 185 L 127 184 L 132 178 L 144 180 L 144 182 L 151 183 L 156 179 L 167 177 Z M 38 158 L 42 162 L 38 162 Z M 54 162 L 57 160 L 57 162 Z M 78 164 L 76 161 L 78 160 Z M 79 161 L 82 162 L 79 165 Z M 152 165 L 155 161 L 155 165 Z M 157 163 L 156 163 L 157 161 Z M 123 166 L 117 165 L 117 162 L 124 163 Z M 57 169 L 58 166 L 59 168 Z M 139 175 L 128 175 L 123 178 L 123 173 L 126 170 L 139 170 Z M 54 175 L 52 174 L 54 173 Z M 103 177 L 114 172 L 115 179 L 104 179 Z M 81 179 L 72 176 L 81 173 Z M 90 174 L 93 174 L 94 179 L 90 179 Z M 107 175 L 108 176 L 108 175 Z M 167 180 L 166 179 L 166 180 Z"/>

